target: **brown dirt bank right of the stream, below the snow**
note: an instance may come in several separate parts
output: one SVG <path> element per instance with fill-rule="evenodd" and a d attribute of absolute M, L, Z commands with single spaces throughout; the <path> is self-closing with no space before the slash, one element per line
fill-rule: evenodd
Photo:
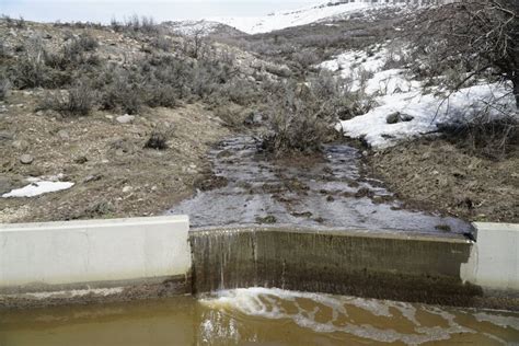
<path fill-rule="evenodd" d="M 366 159 L 407 207 L 469 221 L 519 222 L 519 155 L 491 161 L 441 139 L 403 143 Z"/>

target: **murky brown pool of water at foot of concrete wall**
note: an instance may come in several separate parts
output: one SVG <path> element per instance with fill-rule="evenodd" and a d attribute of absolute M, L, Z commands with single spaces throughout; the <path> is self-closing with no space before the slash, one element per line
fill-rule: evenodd
<path fill-rule="evenodd" d="M 250 288 L 201 298 L 0 314 L 0 345 L 359 345 L 519 342 L 519 314 Z"/>

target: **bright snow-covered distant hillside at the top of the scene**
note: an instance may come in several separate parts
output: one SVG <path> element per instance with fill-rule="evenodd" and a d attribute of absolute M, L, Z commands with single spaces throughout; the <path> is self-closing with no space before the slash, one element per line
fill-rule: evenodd
<path fill-rule="evenodd" d="M 233 26 L 247 34 L 266 33 L 285 27 L 305 25 L 334 16 L 344 16 L 374 5 L 368 2 L 320 1 L 319 4 L 295 11 L 276 12 L 265 16 L 212 18 L 211 21 Z"/>

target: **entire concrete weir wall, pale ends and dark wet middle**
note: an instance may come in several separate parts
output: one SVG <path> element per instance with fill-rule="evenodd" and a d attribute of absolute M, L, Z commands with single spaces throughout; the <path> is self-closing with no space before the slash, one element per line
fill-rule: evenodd
<path fill-rule="evenodd" d="M 244 227 L 188 217 L 0 226 L 0 309 L 252 286 L 519 310 L 519 227 L 477 242 L 401 231 Z"/>

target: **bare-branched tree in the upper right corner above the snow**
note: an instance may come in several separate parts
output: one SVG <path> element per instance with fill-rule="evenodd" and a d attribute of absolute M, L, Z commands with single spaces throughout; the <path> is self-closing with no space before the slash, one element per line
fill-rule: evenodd
<path fill-rule="evenodd" d="M 468 72 L 453 90 L 493 72 L 512 82 L 519 106 L 518 9 L 517 0 L 459 0 L 429 8 L 412 22 L 414 38 L 438 74 L 454 65 Z"/>

